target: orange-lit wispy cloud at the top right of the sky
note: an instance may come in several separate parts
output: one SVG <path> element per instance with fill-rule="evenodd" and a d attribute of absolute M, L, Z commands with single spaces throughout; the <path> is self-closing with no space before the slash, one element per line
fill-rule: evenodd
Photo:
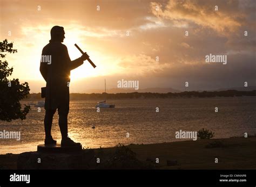
<path fill-rule="evenodd" d="M 245 14 L 238 11 L 238 2 L 231 2 L 172 0 L 165 6 L 158 2 L 152 2 L 151 11 L 159 18 L 173 21 L 174 25 L 178 21 L 182 21 L 182 25 L 194 23 L 226 35 L 228 32 L 237 31 L 242 25 L 241 22 L 245 20 Z M 218 11 L 215 11 L 216 5 Z M 228 9 L 228 6 L 231 6 L 232 9 Z"/>

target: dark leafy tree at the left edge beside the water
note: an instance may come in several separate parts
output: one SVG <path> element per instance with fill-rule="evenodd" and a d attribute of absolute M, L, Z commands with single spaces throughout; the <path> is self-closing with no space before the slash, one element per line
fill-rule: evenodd
<path fill-rule="evenodd" d="M 8 43 L 6 39 L 0 41 L 0 119 L 9 122 L 12 119 L 26 119 L 26 114 L 30 110 L 30 106 L 27 105 L 22 109 L 19 102 L 28 97 L 29 84 L 27 82 L 20 84 L 18 78 L 8 80 L 14 68 L 9 68 L 8 62 L 4 59 L 6 52 L 17 53 L 17 49 L 12 49 L 12 47 L 12 42 Z"/>

